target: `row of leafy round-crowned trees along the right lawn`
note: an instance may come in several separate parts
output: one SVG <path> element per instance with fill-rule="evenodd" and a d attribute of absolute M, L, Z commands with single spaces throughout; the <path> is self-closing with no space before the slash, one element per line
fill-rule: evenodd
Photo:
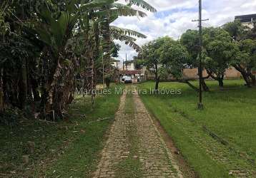
<path fill-rule="evenodd" d="M 181 83 L 189 83 L 189 78 L 183 76 L 184 68 L 198 68 L 199 66 L 199 33 L 197 30 L 188 30 L 178 41 L 168 36 L 158 38 L 142 46 L 138 59 L 154 73 L 155 89 L 158 89 L 159 80 L 171 74 Z M 203 29 L 203 68 L 207 76 L 202 80 L 205 91 L 209 88 L 205 79 L 212 78 L 224 86 L 223 79 L 227 68 L 234 67 L 245 79 L 246 85 L 256 85 L 256 23 L 253 28 L 243 26 L 240 21 L 226 23 L 222 27 Z"/>

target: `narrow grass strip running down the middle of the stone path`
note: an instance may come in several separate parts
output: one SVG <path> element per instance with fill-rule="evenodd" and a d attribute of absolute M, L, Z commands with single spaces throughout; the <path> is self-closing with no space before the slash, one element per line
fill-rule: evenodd
<path fill-rule="evenodd" d="M 124 112 L 127 115 L 127 119 L 129 119 L 129 125 L 127 127 L 129 155 L 117 165 L 116 177 L 142 177 L 140 170 L 142 165 L 139 159 L 137 159 L 139 140 L 137 138 L 137 128 L 134 125 L 134 101 L 131 93 L 127 94 Z"/>

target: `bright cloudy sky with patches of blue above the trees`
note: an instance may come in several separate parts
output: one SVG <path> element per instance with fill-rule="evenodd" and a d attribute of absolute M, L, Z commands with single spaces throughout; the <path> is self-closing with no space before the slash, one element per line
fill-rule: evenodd
<path fill-rule="evenodd" d="M 120 0 L 123 2 L 124 0 Z M 136 43 L 142 46 L 159 36 L 171 36 L 179 38 L 187 29 L 197 28 L 198 0 L 145 0 L 157 9 L 157 13 L 147 12 L 147 17 L 119 17 L 112 25 L 144 33 L 146 39 L 138 39 Z M 203 19 L 210 19 L 203 26 L 222 26 L 222 24 L 233 21 L 237 15 L 256 14 L 256 0 L 202 0 Z M 128 60 L 137 56 L 129 46 L 119 43 L 122 48 L 119 51 L 119 59 Z"/>

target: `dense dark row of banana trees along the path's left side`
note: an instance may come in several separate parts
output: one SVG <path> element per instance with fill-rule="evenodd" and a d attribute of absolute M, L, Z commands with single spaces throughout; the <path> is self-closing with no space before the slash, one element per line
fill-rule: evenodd
<path fill-rule="evenodd" d="M 146 36 L 110 23 L 119 16 L 147 15 L 132 5 L 156 9 L 143 0 L 115 1 L 1 1 L 0 113 L 19 108 L 42 118 L 63 117 L 76 78 L 92 91 L 102 73 L 105 79 L 113 75 L 112 57 L 119 49 L 114 39 L 139 51 L 132 36 Z"/>

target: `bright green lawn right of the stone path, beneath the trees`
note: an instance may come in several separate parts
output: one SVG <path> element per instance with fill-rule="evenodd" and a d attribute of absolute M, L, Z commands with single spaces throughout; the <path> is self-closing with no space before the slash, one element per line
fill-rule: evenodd
<path fill-rule="evenodd" d="M 225 88 L 220 89 L 216 81 L 207 81 L 210 92 L 203 93 L 202 111 L 197 110 L 197 93 L 182 83 L 159 85 L 180 89 L 180 95 L 141 96 L 200 177 L 229 177 L 233 169 L 255 169 L 256 88 L 244 83 L 225 80 Z M 149 90 L 154 83 L 142 83 L 139 88 Z"/>

